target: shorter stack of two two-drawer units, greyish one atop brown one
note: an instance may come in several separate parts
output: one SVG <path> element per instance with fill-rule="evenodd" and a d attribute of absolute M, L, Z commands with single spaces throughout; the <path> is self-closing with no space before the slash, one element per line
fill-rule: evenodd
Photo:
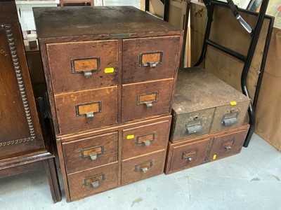
<path fill-rule="evenodd" d="M 249 102 L 200 67 L 180 69 L 165 174 L 240 153 Z"/>

